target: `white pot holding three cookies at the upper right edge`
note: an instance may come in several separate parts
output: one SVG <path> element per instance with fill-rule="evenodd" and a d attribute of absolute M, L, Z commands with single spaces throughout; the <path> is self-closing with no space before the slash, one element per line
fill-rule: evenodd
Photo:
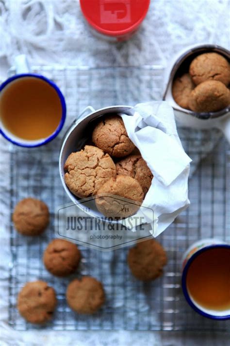
<path fill-rule="evenodd" d="M 166 73 L 164 100 L 184 126 L 220 128 L 230 140 L 230 52 L 195 45 L 181 52 Z"/>

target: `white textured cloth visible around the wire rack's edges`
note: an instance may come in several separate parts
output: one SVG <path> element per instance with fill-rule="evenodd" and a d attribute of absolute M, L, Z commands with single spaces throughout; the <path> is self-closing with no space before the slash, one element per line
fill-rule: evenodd
<path fill-rule="evenodd" d="M 0 0 L 0 65 L 5 62 L 11 65 L 16 55 L 24 53 L 31 64 L 166 66 L 174 53 L 193 43 L 216 43 L 230 48 L 229 15 L 228 0 L 152 0 L 139 32 L 128 42 L 114 44 L 93 36 L 82 18 L 78 0 Z M 8 163 L 3 156 L 1 162 L 2 189 L 8 184 Z M 8 215 L 0 212 L 0 320 L 6 321 Z M 7 331 L 5 327 L 1 325 L 0 346 L 229 345 L 226 335 L 213 333 L 209 336 L 190 333 L 189 338 L 184 333 L 137 331 L 36 332 L 35 335 Z"/>

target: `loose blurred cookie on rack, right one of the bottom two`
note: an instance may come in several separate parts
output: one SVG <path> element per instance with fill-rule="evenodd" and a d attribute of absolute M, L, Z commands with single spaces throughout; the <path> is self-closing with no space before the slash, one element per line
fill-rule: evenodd
<path fill-rule="evenodd" d="M 78 313 L 91 314 L 99 310 L 105 301 L 102 284 L 91 276 L 71 281 L 67 287 L 66 299 L 69 307 Z"/>

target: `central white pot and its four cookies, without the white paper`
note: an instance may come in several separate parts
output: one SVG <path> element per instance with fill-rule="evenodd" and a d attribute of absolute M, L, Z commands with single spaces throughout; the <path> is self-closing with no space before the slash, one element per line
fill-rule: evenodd
<path fill-rule="evenodd" d="M 97 218 L 134 215 L 153 178 L 119 113 L 132 116 L 131 107 L 86 109 L 68 130 L 60 153 L 67 195 L 75 204 L 90 204 L 89 215 Z"/>

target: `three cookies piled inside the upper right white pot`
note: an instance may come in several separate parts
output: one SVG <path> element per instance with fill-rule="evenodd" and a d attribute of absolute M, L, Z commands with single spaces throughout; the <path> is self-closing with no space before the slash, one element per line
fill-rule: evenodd
<path fill-rule="evenodd" d="M 197 55 L 173 81 L 172 95 L 183 109 L 216 112 L 230 105 L 230 64 L 215 52 Z"/>

